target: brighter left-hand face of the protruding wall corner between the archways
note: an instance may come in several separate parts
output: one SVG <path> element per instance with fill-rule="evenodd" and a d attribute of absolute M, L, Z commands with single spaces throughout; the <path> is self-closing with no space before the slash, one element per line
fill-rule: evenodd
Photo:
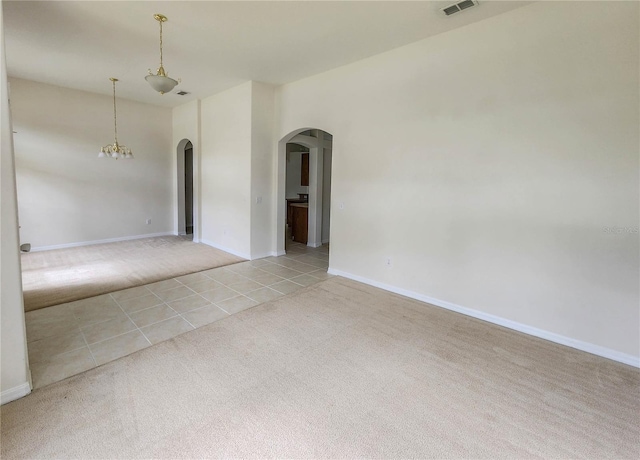
<path fill-rule="evenodd" d="M 252 83 L 201 102 L 202 241 L 251 255 Z"/>

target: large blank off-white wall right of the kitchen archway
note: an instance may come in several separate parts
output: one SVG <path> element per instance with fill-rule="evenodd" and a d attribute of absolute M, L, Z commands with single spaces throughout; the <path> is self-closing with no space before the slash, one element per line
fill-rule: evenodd
<path fill-rule="evenodd" d="M 638 365 L 638 6 L 539 2 L 281 87 L 278 139 L 334 136 L 331 269 Z"/>

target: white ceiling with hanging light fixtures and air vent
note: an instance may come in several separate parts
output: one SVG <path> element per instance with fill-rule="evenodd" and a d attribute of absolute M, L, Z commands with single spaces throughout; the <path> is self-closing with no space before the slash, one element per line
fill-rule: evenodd
<path fill-rule="evenodd" d="M 482 1 L 3 1 L 9 76 L 175 107 L 248 80 L 283 84 L 504 13 L 530 2 Z M 173 93 L 144 80 L 159 64 Z M 178 96 L 178 90 L 188 96 Z"/>

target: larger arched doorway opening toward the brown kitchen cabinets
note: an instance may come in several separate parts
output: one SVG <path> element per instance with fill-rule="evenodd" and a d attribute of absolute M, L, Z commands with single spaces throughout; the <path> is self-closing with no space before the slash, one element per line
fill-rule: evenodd
<path fill-rule="evenodd" d="M 293 147 L 294 145 L 296 147 Z M 288 219 L 289 204 L 291 199 L 298 197 L 293 195 L 300 194 L 308 197 L 307 245 L 319 247 L 329 243 L 332 146 L 333 136 L 326 131 L 314 128 L 292 131 L 278 143 L 277 240 L 275 244 L 278 255 L 286 253 L 287 221 L 290 220 Z M 294 153 L 308 154 L 309 181 L 306 186 L 292 188 L 291 180 L 287 181 L 287 166 L 293 163 L 293 167 L 298 168 L 303 164 L 302 161 L 292 161 Z M 304 176 L 304 173 L 299 176 Z M 287 193 L 292 196 L 288 196 Z M 287 201 L 287 198 L 290 200 Z"/>

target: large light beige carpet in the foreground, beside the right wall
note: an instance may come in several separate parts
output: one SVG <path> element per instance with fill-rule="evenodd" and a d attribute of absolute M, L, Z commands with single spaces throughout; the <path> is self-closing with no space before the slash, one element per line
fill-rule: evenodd
<path fill-rule="evenodd" d="M 633 458 L 637 369 L 343 278 L 2 407 L 2 458 Z"/>

